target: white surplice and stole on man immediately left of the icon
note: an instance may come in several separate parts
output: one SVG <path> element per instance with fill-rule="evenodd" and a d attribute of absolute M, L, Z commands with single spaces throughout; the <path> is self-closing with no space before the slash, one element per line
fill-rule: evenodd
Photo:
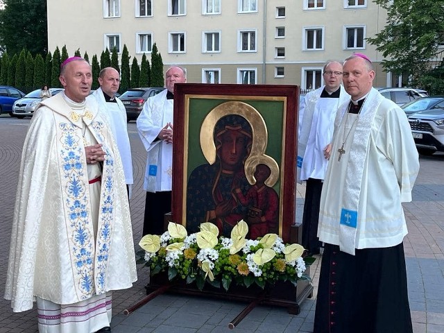
<path fill-rule="evenodd" d="M 167 99 L 167 89 L 150 97 L 137 117 L 137 130 L 148 156 L 144 190 L 171 191 L 173 176 L 173 145 L 157 139 L 167 123 L 173 123 L 173 99 Z"/>

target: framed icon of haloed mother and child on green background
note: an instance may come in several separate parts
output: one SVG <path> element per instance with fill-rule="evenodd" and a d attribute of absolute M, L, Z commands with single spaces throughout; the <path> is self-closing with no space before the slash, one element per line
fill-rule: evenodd
<path fill-rule="evenodd" d="M 296 85 L 176 84 L 173 220 L 198 232 L 290 240 L 296 219 Z"/>

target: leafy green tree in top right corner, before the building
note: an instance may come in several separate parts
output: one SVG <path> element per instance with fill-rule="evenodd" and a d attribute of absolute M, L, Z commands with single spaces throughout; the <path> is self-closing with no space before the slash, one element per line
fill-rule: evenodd
<path fill-rule="evenodd" d="M 436 0 L 374 0 L 387 10 L 387 24 L 370 44 L 382 52 L 386 71 L 409 76 L 409 85 L 421 86 L 442 62 L 444 6 Z"/>

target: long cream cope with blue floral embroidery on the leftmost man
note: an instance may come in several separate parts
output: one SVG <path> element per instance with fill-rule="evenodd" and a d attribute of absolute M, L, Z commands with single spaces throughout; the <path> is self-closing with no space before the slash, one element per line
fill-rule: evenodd
<path fill-rule="evenodd" d="M 94 99 L 80 114 L 64 96 L 40 104 L 24 142 L 5 294 L 17 312 L 32 309 L 35 298 L 72 305 L 137 280 L 117 146 Z M 89 185 L 97 169 L 85 158 L 95 142 L 106 153 L 93 184 L 97 200 Z"/>

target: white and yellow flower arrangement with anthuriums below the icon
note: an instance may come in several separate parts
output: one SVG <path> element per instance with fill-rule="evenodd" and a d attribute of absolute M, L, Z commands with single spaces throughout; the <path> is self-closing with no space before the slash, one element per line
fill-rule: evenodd
<path fill-rule="evenodd" d="M 183 225 L 169 223 L 161 236 L 142 237 L 138 263 L 150 266 L 151 275 L 167 271 L 169 280 L 196 282 L 199 289 L 205 282 L 228 290 L 232 283 L 244 287 L 254 283 L 264 288 L 278 280 L 295 285 L 298 280 L 310 280 L 304 272 L 314 258 L 302 258 L 302 246 L 285 245 L 277 234 L 256 240 L 246 239 L 247 234 L 244 221 L 234 226 L 230 238 L 219 237 L 213 223 L 202 223 L 200 232 L 190 235 Z"/>

